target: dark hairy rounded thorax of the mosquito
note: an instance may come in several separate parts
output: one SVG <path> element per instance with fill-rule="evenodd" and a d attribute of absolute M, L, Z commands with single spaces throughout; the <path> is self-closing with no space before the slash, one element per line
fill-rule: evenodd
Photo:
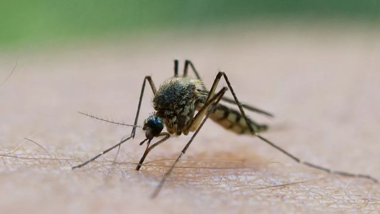
<path fill-rule="evenodd" d="M 161 117 L 170 134 L 188 134 L 198 101 L 199 80 L 172 77 L 164 81 L 153 98 L 156 115 Z"/>

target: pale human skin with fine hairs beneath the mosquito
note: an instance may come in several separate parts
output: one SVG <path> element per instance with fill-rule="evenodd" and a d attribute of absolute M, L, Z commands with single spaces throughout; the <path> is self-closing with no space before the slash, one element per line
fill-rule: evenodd
<path fill-rule="evenodd" d="M 15 72 L 0 88 L 1 211 L 379 212 L 378 184 L 299 165 L 260 139 L 212 121 L 155 200 L 150 194 L 191 134 L 155 148 L 146 159 L 153 162 L 139 172 L 141 129 L 121 146 L 115 163 L 117 150 L 71 170 L 131 131 L 77 112 L 132 124 L 144 76 L 152 75 L 158 87 L 173 75 L 178 58 L 180 69 L 191 59 L 207 87 L 218 68 L 224 70 L 240 101 L 274 113 L 268 119 L 247 112 L 270 125 L 262 135 L 296 157 L 380 179 L 379 38 L 356 30 L 258 29 L 18 53 Z M 2 53 L 1 77 L 14 66 L 10 55 Z M 147 87 L 139 125 L 153 111 L 151 97 Z M 25 137 L 46 151 L 31 141 L 17 147 Z"/>

